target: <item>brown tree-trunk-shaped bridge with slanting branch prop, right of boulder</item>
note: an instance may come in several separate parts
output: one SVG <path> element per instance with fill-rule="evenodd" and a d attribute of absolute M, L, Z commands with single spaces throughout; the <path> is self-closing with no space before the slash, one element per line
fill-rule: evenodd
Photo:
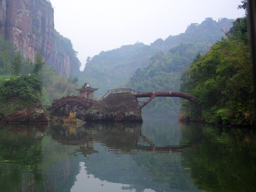
<path fill-rule="evenodd" d="M 147 105 L 152 99 L 155 97 L 180 97 L 186 100 L 195 101 L 195 97 L 192 95 L 188 95 L 186 93 L 177 92 L 177 91 L 160 91 L 160 92 L 146 92 L 144 94 L 135 94 L 136 98 L 150 97 L 146 102 L 144 102 L 140 109 Z"/>

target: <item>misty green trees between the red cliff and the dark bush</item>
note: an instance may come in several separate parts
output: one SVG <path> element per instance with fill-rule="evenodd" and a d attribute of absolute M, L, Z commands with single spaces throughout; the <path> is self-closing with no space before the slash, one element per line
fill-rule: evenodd
<path fill-rule="evenodd" d="M 67 40 L 67 42 L 70 42 L 70 40 Z M 40 98 L 43 105 L 51 105 L 54 99 L 59 99 L 66 95 L 77 95 L 77 91 L 75 90 L 79 87 L 77 77 L 68 78 L 67 76 L 60 76 L 58 69 L 53 69 L 53 66 L 46 67 L 44 62 L 42 61 L 41 52 L 36 53 L 35 62 L 31 62 L 28 59 L 24 60 L 21 53 L 18 50 L 16 50 L 15 47 L 12 45 L 12 42 L 4 40 L 3 37 L 0 37 L 1 86 L 7 85 L 4 84 L 5 79 L 16 81 L 15 79 L 17 79 L 17 76 L 22 77 L 23 75 L 28 74 L 35 74 L 36 76 L 38 76 L 38 78 L 40 79 L 39 81 L 41 81 L 42 83 L 42 87 L 40 90 L 42 95 L 40 96 Z M 30 83 L 32 82 L 27 81 L 27 86 L 33 86 Z M 7 88 L 6 90 L 11 89 Z M 28 89 L 27 91 L 29 90 L 30 89 Z M 19 95 L 20 94 L 17 94 L 15 96 L 15 100 L 17 99 L 17 97 L 19 97 Z M 4 97 L 5 99 L 8 99 L 7 95 L 5 95 Z M 23 100 L 23 98 L 20 99 Z M 10 100 L 12 100 L 12 97 L 10 98 Z M 17 106 L 18 103 L 20 102 L 17 102 L 15 106 Z M 13 107 L 13 109 L 16 108 L 15 106 Z"/>

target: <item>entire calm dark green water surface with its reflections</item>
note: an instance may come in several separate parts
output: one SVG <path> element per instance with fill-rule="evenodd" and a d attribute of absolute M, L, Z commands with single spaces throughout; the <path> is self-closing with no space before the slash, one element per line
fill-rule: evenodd
<path fill-rule="evenodd" d="M 255 191 L 256 133 L 172 119 L 0 124 L 0 191 Z"/>

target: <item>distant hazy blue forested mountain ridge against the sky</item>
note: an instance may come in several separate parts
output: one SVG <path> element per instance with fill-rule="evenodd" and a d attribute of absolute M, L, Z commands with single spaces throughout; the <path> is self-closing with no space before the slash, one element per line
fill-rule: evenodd
<path fill-rule="evenodd" d="M 180 65 L 177 68 L 181 69 L 188 65 L 187 62 L 195 57 L 196 52 L 206 52 L 213 43 L 225 36 L 224 32 L 228 31 L 232 26 L 232 21 L 234 20 L 227 18 L 221 18 L 218 21 L 206 18 L 201 24 L 192 23 L 189 25 L 184 33 L 169 36 L 165 40 L 157 39 L 150 45 L 139 42 L 133 45 L 124 45 L 111 51 L 102 51 L 99 55 L 87 58 L 84 71 L 78 74 L 79 82 L 81 85 L 89 82 L 92 87 L 100 87 L 95 93 L 100 98 L 108 90 L 116 88 L 119 84 L 128 80 L 138 68 L 145 68 L 152 63 L 150 58 L 155 53 L 162 52 L 162 54 L 166 54 L 170 48 L 180 44 L 181 47 L 187 45 L 194 47 L 195 49 L 188 48 L 186 53 L 184 53 L 186 56 L 182 56 L 187 58 L 187 61 L 184 61 L 186 64 L 184 62 L 180 64 L 178 61 L 175 62 L 174 68 L 176 68 L 176 65 Z M 176 47 L 175 49 L 170 51 L 169 56 L 170 54 L 183 54 L 181 53 L 182 49 L 186 48 Z M 177 70 L 180 71 L 180 69 Z M 143 87 L 143 90 L 148 91 L 147 89 L 149 88 Z"/>

